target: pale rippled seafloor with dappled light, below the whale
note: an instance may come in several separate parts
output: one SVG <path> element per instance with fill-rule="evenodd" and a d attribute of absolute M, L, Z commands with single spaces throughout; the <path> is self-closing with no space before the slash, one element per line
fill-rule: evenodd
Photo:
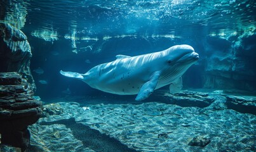
<path fill-rule="evenodd" d="M 226 109 L 223 96 L 214 96 L 206 108 L 56 98 L 29 127 L 30 151 L 256 151 L 256 116 Z M 193 137 L 210 143 L 189 146 Z"/>

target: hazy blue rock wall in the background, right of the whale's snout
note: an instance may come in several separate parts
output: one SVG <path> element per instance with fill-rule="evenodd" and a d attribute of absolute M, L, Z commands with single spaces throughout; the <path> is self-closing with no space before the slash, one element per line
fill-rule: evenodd
<path fill-rule="evenodd" d="M 206 61 L 203 87 L 255 93 L 255 40 L 255 35 L 229 39 L 208 37 L 204 45 Z"/>

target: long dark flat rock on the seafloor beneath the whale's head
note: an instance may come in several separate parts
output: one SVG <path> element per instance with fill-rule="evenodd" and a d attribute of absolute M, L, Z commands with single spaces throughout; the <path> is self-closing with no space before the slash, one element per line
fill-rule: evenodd
<path fill-rule="evenodd" d="M 183 107 L 197 106 L 205 108 L 215 100 L 213 97 L 208 96 L 207 93 L 194 91 L 182 91 L 175 94 L 165 93 L 164 96 L 169 99 L 171 104 Z"/>

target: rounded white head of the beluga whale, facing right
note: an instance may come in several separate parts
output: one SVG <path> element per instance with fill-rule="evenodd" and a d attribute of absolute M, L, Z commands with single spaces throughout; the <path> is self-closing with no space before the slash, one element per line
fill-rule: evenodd
<path fill-rule="evenodd" d="M 183 75 L 199 59 L 199 55 L 193 47 L 185 44 L 172 46 L 163 51 L 163 54 L 163 62 L 165 63 L 163 63 L 162 76 L 159 80 L 165 85 L 172 83 L 173 80 Z"/>

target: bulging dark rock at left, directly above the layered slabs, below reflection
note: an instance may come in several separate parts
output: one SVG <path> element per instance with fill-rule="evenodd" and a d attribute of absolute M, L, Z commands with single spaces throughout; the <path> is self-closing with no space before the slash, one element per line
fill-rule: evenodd
<path fill-rule="evenodd" d="M 0 71 L 22 73 L 22 77 L 27 79 L 32 85 L 32 89 L 35 90 L 36 85 L 29 68 L 32 53 L 27 36 L 8 23 L 0 23 L 0 31 Z M 3 77 L 3 79 L 6 78 Z M 18 81 L 20 82 L 20 80 Z"/>

